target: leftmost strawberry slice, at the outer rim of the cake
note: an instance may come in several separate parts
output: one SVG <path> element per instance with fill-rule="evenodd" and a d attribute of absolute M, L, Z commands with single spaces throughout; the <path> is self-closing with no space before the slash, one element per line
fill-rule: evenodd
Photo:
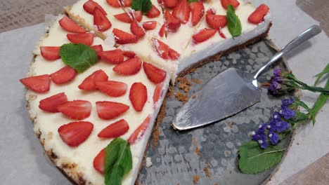
<path fill-rule="evenodd" d="M 45 93 L 50 88 L 50 78 L 48 74 L 22 78 L 20 82 L 36 93 Z"/>

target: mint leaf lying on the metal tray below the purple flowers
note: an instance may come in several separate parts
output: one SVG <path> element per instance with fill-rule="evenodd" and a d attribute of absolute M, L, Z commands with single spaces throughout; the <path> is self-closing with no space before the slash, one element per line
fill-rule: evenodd
<path fill-rule="evenodd" d="M 239 168 L 245 174 L 257 174 L 280 163 L 283 149 L 270 145 L 261 149 L 254 141 L 239 146 Z"/>

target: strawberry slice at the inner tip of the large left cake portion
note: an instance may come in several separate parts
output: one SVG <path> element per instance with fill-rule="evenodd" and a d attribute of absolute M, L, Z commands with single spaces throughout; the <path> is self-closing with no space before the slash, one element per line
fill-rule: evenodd
<path fill-rule="evenodd" d="M 153 64 L 149 64 L 144 62 L 143 69 L 145 71 L 146 76 L 148 79 L 153 83 L 161 83 L 166 78 L 167 72 L 163 69 L 155 67 Z"/>

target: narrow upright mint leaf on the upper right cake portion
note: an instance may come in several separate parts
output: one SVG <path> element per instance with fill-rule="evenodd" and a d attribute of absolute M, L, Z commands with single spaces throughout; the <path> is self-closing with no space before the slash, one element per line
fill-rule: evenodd
<path fill-rule="evenodd" d="M 233 6 L 228 5 L 226 11 L 226 20 L 228 31 L 233 37 L 240 36 L 242 34 L 242 26 L 236 11 L 234 11 Z"/>

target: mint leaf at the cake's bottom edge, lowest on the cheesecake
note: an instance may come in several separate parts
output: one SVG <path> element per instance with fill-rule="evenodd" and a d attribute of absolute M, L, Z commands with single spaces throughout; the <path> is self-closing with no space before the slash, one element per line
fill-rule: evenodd
<path fill-rule="evenodd" d="M 132 169 L 130 144 L 116 138 L 105 148 L 105 184 L 121 184 L 125 174 Z"/>

